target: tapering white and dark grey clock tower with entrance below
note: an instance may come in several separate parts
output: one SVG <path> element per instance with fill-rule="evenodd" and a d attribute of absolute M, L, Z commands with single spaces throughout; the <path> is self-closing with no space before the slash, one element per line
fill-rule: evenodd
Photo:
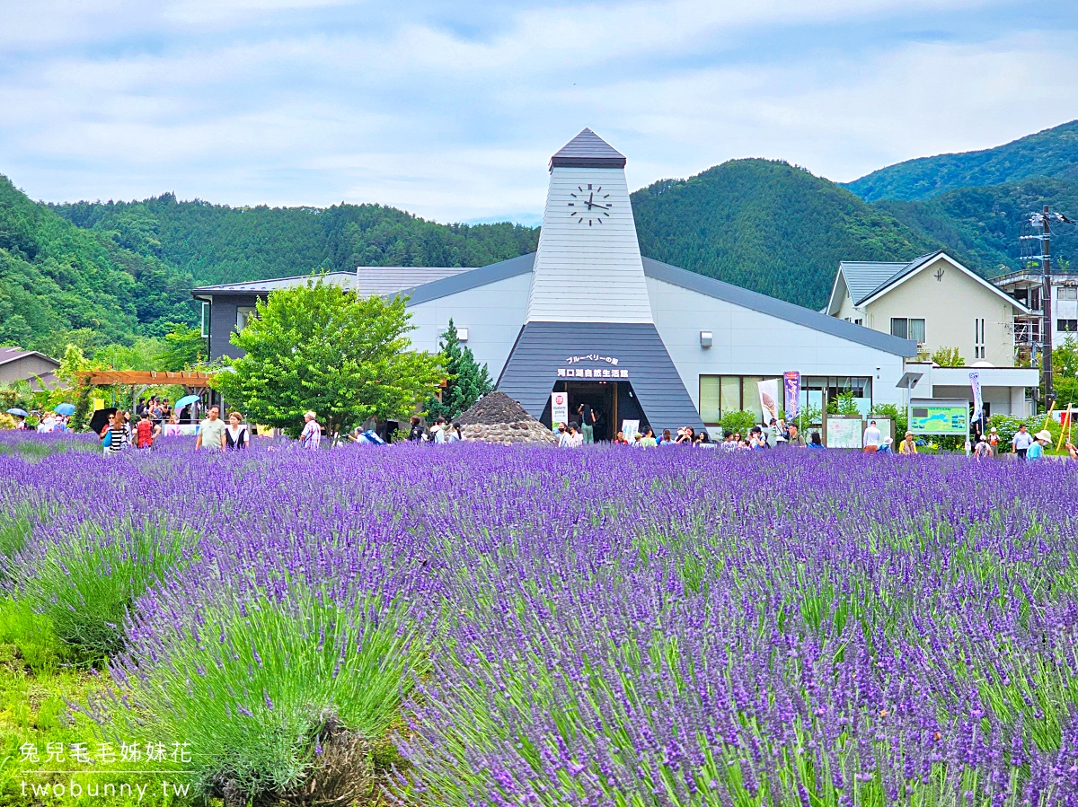
<path fill-rule="evenodd" d="M 704 426 L 651 315 L 625 157 L 591 129 L 550 159 L 527 315 L 498 389 L 549 426 L 551 394 L 565 393 L 569 420 L 600 413 L 608 440 L 623 421 Z"/>

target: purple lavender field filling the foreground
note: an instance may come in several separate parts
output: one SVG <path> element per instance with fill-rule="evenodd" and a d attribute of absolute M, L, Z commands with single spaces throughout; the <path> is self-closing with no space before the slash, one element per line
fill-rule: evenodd
<path fill-rule="evenodd" d="M 1078 804 L 1074 464 L 42 443 L 4 596 L 193 801 Z"/>

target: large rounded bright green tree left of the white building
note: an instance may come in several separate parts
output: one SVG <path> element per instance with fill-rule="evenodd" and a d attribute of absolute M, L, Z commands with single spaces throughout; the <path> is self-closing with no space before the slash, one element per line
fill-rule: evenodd
<path fill-rule="evenodd" d="M 410 350 L 405 300 L 361 298 L 320 278 L 275 291 L 232 344 L 247 354 L 213 386 L 255 422 L 298 435 L 313 409 L 331 433 L 402 417 L 437 388 L 441 358 Z"/>

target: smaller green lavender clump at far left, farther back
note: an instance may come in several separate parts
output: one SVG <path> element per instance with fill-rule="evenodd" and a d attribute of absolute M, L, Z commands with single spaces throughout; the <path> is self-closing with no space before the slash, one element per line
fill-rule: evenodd
<path fill-rule="evenodd" d="M 51 620 L 57 638 L 93 664 L 123 649 L 132 603 L 189 562 L 192 545 L 189 532 L 157 521 L 51 529 L 16 556 L 15 588 Z"/>

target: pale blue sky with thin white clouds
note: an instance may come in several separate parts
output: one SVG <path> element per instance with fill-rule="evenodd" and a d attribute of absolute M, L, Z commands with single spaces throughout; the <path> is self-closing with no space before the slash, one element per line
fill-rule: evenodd
<path fill-rule="evenodd" d="M 0 0 L 0 173 L 538 223 L 584 126 L 638 187 L 780 157 L 847 181 L 1078 117 L 1078 3 Z"/>

